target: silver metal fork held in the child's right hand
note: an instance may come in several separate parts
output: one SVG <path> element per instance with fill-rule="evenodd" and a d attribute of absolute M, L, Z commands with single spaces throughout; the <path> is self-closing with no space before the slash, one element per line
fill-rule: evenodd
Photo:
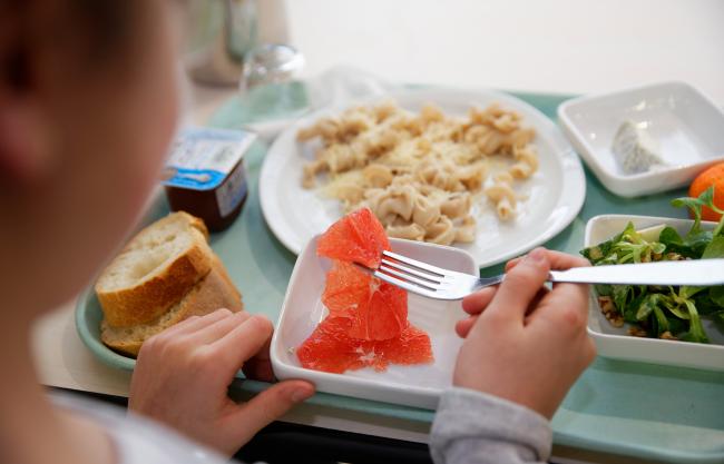
<path fill-rule="evenodd" d="M 498 285 L 506 277 L 505 274 L 477 277 L 392 251 L 382 253 L 382 263 L 378 269 L 358 266 L 384 282 L 436 299 L 461 299 L 480 288 Z M 724 259 L 574 267 L 567 270 L 551 270 L 547 280 L 575 284 L 724 285 Z"/>

